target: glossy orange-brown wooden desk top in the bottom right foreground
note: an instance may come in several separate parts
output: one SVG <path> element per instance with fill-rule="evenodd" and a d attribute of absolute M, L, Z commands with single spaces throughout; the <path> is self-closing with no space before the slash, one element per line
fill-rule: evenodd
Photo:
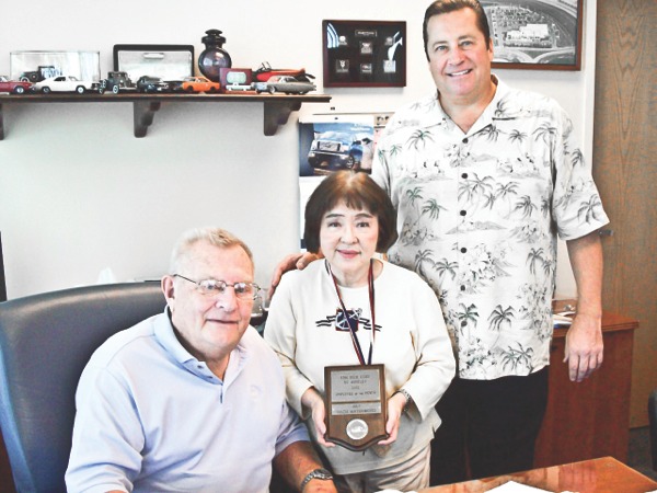
<path fill-rule="evenodd" d="M 464 483 L 446 484 L 420 490 L 419 493 L 480 493 L 516 481 L 550 492 L 578 493 L 645 493 L 657 490 L 657 483 L 613 457 L 532 469 Z"/>

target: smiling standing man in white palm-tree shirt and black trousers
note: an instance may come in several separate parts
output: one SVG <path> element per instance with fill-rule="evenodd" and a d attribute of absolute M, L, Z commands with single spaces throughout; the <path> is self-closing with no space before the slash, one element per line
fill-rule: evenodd
<path fill-rule="evenodd" d="M 389 260 L 440 299 L 457 378 L 437 404 L 431 484 L 530 469 L 548 400 L 556 234 L 566 240 L 577 314 L 564 362 L 581 381 L 602 363 L 602 252 L 608 222 L 566 113 L 491 73 L 476 0 L 438 0 L 424 44 L 437 91 L 399 111 L 372 177 L 397 209 Z"/>

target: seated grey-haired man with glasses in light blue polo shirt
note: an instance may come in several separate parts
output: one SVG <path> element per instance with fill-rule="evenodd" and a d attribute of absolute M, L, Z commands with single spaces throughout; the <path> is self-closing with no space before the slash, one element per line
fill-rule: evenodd
<path fill-rule="evenodd" d="M 335 492 L 277 356 L 249 325 L 249 248 L 191 231 L 162 291 L 164 313 L 110 337 L 82 372 L 68 491 L 265 492 L 274 461 L 298 491 Z"/>

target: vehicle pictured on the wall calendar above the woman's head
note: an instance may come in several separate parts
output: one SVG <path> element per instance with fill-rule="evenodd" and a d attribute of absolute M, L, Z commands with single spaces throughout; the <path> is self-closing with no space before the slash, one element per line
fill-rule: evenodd
<path fill-rule="evenodd" d="M 371 142 L 367 134 L 324 131 L 310 145 L 308 163 L 320 169 L 360 169 L 364 151 Z"/>

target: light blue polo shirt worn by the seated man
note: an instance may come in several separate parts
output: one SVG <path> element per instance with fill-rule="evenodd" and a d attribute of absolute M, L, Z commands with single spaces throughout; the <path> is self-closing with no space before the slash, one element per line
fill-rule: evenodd
<path fill-rule="evenodd" d="M 166 313 L 110 337 L 84 368 L 76 404 L 71 492 L 267 491 L 274 457 L 308 439 L 255 329 L 221 381 L 180 344 Z"/>

